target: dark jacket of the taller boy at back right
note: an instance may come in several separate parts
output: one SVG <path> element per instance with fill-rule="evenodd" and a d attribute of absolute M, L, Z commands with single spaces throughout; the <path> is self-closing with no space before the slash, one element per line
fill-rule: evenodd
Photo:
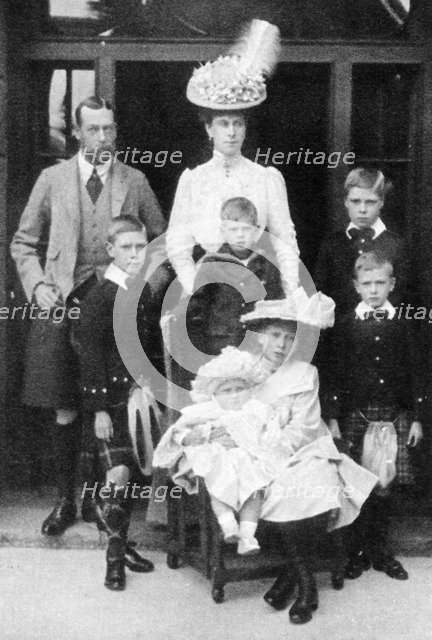
<path fill-rule="evenodd" d="M 393 265 L 396 278 L 390 302 L 396 306 L 406 299 L 410 265 L 406 243 L 397 233 L 386 229 L 374 240 L 350 240 L 345 231 L 329 235 L 321 245 L 315 267 L 314 282 L 336 304 L 336 314 L 340 316 L 355 309 L 358 294 L 353 285 L 355 261 L 361 253 L 379 251 L 384 253 Z"/>

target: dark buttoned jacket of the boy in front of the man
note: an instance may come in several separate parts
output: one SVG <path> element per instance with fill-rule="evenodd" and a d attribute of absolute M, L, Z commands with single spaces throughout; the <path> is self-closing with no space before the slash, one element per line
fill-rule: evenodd
<path fill-rule="evenodd" d="M 113 310 L 117 294 L 120 304 L 133 304 L 134 291 L 121 289 L 111 280 L 102 280 L 82 303 L 79 322 L 73 330 L 80 365 L 80 389 L 86 411 L 108 411 L 114 405 L 127 402 L 135 384 L 119 354 L 113 328 Z M 143 348 L 148 342 L 146 304 L 137 307 L 138 336 Z M 136 348 L 131 348 L 134 374 L 145 371 L 144 360 Z M 136 358 L 135 358 L 136 355 Z"/>

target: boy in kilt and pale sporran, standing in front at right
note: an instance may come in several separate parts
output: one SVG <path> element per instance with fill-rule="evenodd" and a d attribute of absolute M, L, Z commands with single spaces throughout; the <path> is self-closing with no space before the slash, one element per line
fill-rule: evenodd
<path fill-rule="evenodd" d="M 380 477 L 348 530 L 346 577 L 352 579 L 371 565 L 391 578 L 408 578 L 388 547 L 390 487 L 415 482 L 409 448 L 423 437 L 423 382 L 412 327 L 389 301 L 395 284 L 387 256 L 357 258 L 361 302 L 336 322 L 323 385 L 333 437 L 342 436 L 354 460 Z"/>

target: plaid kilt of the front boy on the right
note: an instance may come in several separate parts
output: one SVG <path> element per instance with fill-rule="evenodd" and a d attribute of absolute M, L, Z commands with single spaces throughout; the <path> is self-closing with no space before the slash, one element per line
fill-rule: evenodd
<path fill-rule="evenodd" d="M 401 411 L 395 407 L 369 406 L 345 415 L 341 420 L 341 434 L 346 440 L 353 443 L 351 457 L 358 464 L 361 464 L 363 438 L 368 428 L 368 421 L 375 422 L 380 420 L 393 422 L 397 434 L 395 482 L 404 485 L 414 484 L 417 475 L 416 465 L 410 453 L 410 448 L 407 446 L 409 430 L 413 421 L 411 411 Z"/>

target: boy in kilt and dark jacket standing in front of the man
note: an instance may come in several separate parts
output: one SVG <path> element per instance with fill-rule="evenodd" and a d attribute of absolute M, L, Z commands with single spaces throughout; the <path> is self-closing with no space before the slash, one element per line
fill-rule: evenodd
<path fill-rule="evenodd" d="M 74 333 L 85 412 L 83 455 L 99 455 L 105 473 L 103 492 L 98 491 L 102 498 L 98 526 L 108 534 L 105 586 L 113 591 L 126 586 L 125 566 L 140 573 L 153 570 L 153 564 L 127 543 L 133 506 L 127 497 L 128 482 L 141 479 L 142 484 L 151 475 L 152 407 L 122 361 L 113 328 L 116 296 L 119 292 L 127 295 L 143 266 L 146 245 L 139 220 L 118 216 L 112 222 L 107 242 L 112 262 L 104 279 L 86 297 Z M 142 307 L 139 304 L 137 311 L 141 341 L 146 335 Z M 153 411 L 157 413 L 154 406 Z"/>

